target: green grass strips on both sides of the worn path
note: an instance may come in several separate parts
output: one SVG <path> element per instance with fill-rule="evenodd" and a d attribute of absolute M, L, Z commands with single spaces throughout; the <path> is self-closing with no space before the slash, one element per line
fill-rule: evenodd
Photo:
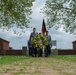
<path fill-rule="evenodd" d="M 38 58 L 38 57 L 37 57 Z M 64 60 L 64 61 L 71 61 L 71 62 L 76 62 L 76 56 L 75 55 L 53 55 L 50 57 L 42 57 L 42 58 L 47 58 L 47 59 L 57 59 L 57 60 Z M 5 65 L 5 64 L 11 64 L 13 62 L 18 62 L 22 60 L 28 60 L 28 59 L 35 59 L 30 56 L 0 56 L 0 66 Z M 33 61 L 30 61 L 31 63 Z"/>

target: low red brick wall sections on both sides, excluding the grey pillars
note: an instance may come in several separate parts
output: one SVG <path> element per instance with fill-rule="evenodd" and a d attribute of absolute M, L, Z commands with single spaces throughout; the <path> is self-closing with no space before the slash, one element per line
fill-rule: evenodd
<path fill-rule="evenodd" d="M 0 51 L 0 55 L 22 55 L 22 50 Z M 76 50 L 58 50 L 58 55 L 76 55 Z"/>

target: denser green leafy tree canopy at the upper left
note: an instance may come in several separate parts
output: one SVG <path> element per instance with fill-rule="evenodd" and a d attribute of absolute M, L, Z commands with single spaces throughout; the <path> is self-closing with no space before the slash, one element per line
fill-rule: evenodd
<path fill-rule="evenodd" d="M 28 27 L 31 7 L 35 0 L 0 0 L 0 28 Z"/>

